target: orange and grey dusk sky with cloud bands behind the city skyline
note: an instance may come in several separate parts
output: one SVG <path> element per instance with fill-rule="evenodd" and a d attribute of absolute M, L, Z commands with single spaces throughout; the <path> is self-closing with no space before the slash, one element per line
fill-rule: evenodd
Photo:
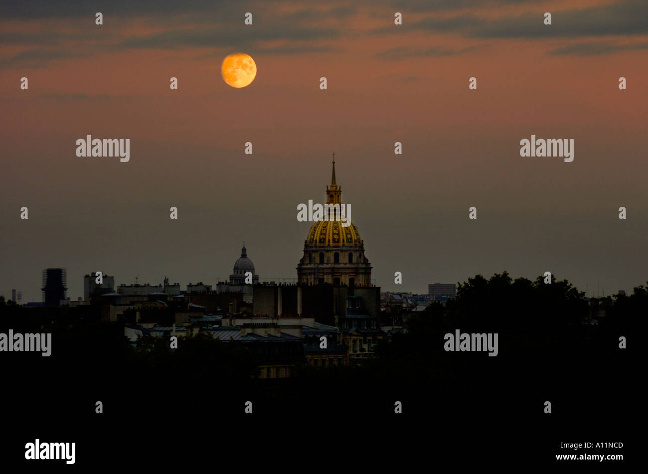
<path fill-rule="evenodd" d="M 47 267 L 67 269 L 71 299 L 91 271 L 215 284 L 243 241 L 262 280 L 296 278 L 310 228 L 297 205 L 325 202 L 333 152 L 383 290 L 502 271 L 550 271 L 590 295 L 648 280 L 643 0 L 1 9 L 5 297 L 40 301 Z M 248 87 L 222 80 L 233 52 L 257 64 Z M 77 157 L 88 134 L 130 139 L 130 161 Z M 520 157 L 532 134 L 573 139 L 573 162 Z"/>

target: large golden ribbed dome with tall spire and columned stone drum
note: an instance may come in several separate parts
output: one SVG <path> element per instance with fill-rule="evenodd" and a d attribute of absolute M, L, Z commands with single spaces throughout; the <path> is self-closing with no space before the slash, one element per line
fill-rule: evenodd
<path fill-rule="evenodd" d="M 335 181 L 335 155 L 326 203 L 341 205 L 342 188 Z M 339 215 L 338 215 L 339 218 Z M 344 227 L 339 220 L 315 222 L 304 241 L 304 256 L 297 265 L 301 284 L 370 286 L 371 264 L 364 254 L 364 242 L 355 224 Z"/>

